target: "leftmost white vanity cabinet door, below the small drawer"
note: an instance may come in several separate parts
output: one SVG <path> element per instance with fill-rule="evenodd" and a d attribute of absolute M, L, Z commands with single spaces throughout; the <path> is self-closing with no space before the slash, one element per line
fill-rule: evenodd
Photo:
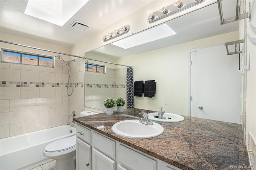
<path fill-rule="evenodd" d="M 76 138 L 76 170 L 92 170 L 92 146 Z"/>

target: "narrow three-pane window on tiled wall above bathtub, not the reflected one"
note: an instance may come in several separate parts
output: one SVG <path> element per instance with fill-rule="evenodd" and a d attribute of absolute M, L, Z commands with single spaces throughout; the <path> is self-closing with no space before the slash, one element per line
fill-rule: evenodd
<path fill-rule="evenodd" d="M 53 57 L 2 49 L 2 62 L 53 67 Z"/>

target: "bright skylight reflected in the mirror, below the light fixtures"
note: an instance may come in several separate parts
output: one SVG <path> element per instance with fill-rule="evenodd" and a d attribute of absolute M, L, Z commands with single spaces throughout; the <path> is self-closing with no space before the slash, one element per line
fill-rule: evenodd
<path fill-rule="evenodd" d="M 162 24 L 112 44 L 124 49 L 128 49 L 137 45 L 159 40 L 161 38 L 173 36 L 175 34 L 176 32 L 174 32 L 174 30 L 172 30 L 172 28 L 170 28 L 167 24 Z"/>

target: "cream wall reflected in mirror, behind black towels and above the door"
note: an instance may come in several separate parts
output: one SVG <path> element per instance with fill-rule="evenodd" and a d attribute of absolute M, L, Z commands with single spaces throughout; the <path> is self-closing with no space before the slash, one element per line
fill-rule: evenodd
<path fill-rule="evenodd" d="M 188 50 L 234 40 L 238 31 L 118 59 L 132 65 L 134 81 L 157 81 L 155 97 L 134 97 L 134 107 L 153 111 L 164 107 L 166 112 L 188 115 Z"/>

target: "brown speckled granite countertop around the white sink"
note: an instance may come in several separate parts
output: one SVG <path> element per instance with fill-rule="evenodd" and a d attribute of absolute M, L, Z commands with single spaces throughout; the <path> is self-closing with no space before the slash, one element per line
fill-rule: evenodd
<path fill-rule="evenodd" d="M 78 117 L 74 121 L 180 169 L 250 169 L 243 140 L 162 123 L 163 134 L 152 138 L 126 138 L 112 131 L 115 123 L 129 119 L 138 118 L 114 112 Z"/>

